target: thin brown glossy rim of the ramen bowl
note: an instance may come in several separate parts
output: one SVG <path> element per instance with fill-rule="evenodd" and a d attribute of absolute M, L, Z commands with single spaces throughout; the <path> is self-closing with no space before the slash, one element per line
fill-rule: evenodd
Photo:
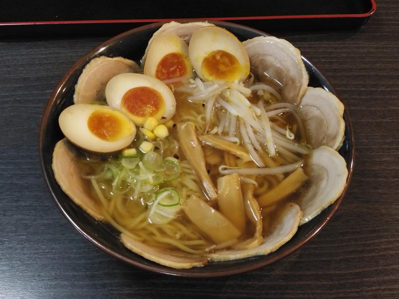
<path fill-rule="evenodd" d="M 201 20 L 198 20 L 198 19 L 179 19 L 179 22 L 192 22 L 192 21 L 198 22 L 198 21 L 201 21 Z M 203 20 L 203 21 L 206 21 L 206 20 Z M 213 21 L 213 20 L 210 21 L 210 22 L 213 23 L 213 24 L 216 24 L 216 25 L 231 26 L 231 27 L 242 29 L 244 31 L 251 31 L 253 33 L 258 34 L 259 36 L 268 36 L 269 35 L 269 34 L 263 32 L 261 30 L 254 29 L 254 28 L 251 28 L 251 27 L 248 27 L 248 26 L 245 26 L 245 25 L 241 25 L 241 24 L 225 22 L 225 21 Z M 87 63 L 88 62 L 88 58 L 90 56 L 95 56 L 97 54 L 97 52 L 100 52 L 102 50 L 103 47 L 108 46 L 112 42 L 114 42 L 114 41 L 116 41 L 116 40 L 118 40 L 118 39 L 120 39 L 122 37 L 125 37 L 127 35 L 131 35 L 131 34 L 134 34 L 136 32 L 140 32 L 142 30 L 146 30 L 146 29 L 160 27 L 160 26 L 162 26 L 165 23 L 168 23 L 168 21 L 147 24 L 147 25 L 144 25 L 144 26 L 140 26 L 140 27 L 133 28 L 131 30 L 125 31 L 123 33 L 120 33 L 120 34 L 114 36 L 114 37 L 111 37 L 110 39 L 107 39 L 106 41 L 102 42 L 101 44 L 99 44 L 97 47 L 95 47 L 91 51 L 87 52 L 78 61 L 76 61 L 72 65 L 72 67 L 70 67 L 69 70 L 63 75 L 61 80 L 57 83 L 56 88 L 53 90 L 53 92 L 52 92 L 52 94 L 51 94 L 51 96 L 50 96 L 50 98 L 49 98 L 49 100 L 47 102 L 47 105 L 46 105 L 46 107 L 44 109 L 42 120 L 41 120 L 41 125 L 40 125 L 40 130 L 39 130 L 39 138 L 38 138 L 38 142 L 39 142 L 38 151 L 39 151 L 39 158 L 40 158 L 40 166 L 41 166 L 41 171 L 42 171 L 42 174 L 44 176 L 44 180 L 46 182 L 47 188 L 50 191 L 56 206 L 61 211 L 61 213 L 64 215 L 64 217 L 90 243 L 92 243 L 93 245 L 95 245 L 97 248 L 99 248 L 103 252 L 113 256 L 114 258 L 116 258 L 118 260 L 121 260 L 121 261 L 123 261 L 123 262 L 125 262 L 125 263 L 127 263 L 129 265 L 138 267 L 140 269 L 143 269 L 143 270 L 146 270 L 146 271 L 149 271 L 149 272 L 152 272 L 152 273 L 166 274 L 166 275 L 173 275 L 173 276 L 182 276 L 182 277 L 222 277 L 222 276 L 229 276 L 229 275 L 234 275 L 234 274 L 240 274 L 240 273 L 253 271 L 253 270 L 265 267 L 265 266 L 267 266 L 269 264 L 272 264 L 274 262 L 277 262 L 277 261 L 285 258 L 286 256 L 292 254 L 293 252 L 295 252 L 296 250 L 301 248 L 303 245 L 305 245 L 307 242 L 309 242 L 311 239 L 313 239 L 320 232 L 320 230 L 327 224 L 327 222 L 331 219 L 331 217 L 335 214 L 335 212 L 337 211 L 338 207 L 341 205 L 341 203 L 343 201 L 343 198 L 345 197 L 345 195 L 347 193 L 347 190 L 349 188 L 349 184 L 350 184 L 350 181 L 351 181 L 351 178 L 352 178 L 352 175 L 353 175 L 353 170 L 354 170 L 355 139 L 354 139 L 354 134 L 353 134 L 352 122 L 351 122 L 351 119 L 349 118 L 349 113 L 348 113 L 348 110 L 347 110 L 345 104 L 344 104 L 344 107 L 345 107 L 345 109 L 344 109 L 344 119 L 345 119 L 346 127 L 348 129 L 348 135 L 349 135 L 350 144 L 351 144 L 351 150 L 349 151 L 349 163 L 347 163 L 348 177 L 347 177 L 346 186 L 345 186 L 341 196 L 333 204 L 331 204 L 328 207 L 328 208 L 330 208 L 328 213 L 323 216 L 323 218 L 317 223 L 317 225 L 309 233 L 307 233 L 304 238 L 300 239 L 295 246 L 291 246 L 291 247 L 285 248 L 280 254 L 278 254 L 276 256 L 273 256 L 272 258 L 269 258 L 269 259 L 256 261 L 255 263 L 244 265 L 244 266 L 242 266 L 240 268 L 232 268 L 230 270 L 220 270 L 220 271 L 216 271 L 216 272 L 204 272 L 204 273 L 202 273 L 202 272 L 190 272 L 190 269 L 169 268 L 169 267 L 165 267 L 165 266 L 156 264 L 155 262 L 153 262 L 154 264 L 150 265 L 150 266 L 143 265 L 140 261 L 132 260 L 132 259 L 120 254 L 118 251 L 112 249 L 111 247 L 101 243 L 95 237 L 91 236 L 91 234 L 89 232 L 83 230 L 69 216 L 68 212 L 63 209 L 63 207 L 61 206 L 61 203 L 59 202 L 57 196 L 55 195 L 55 192 L 54 192 L 53 187 L 52 187 L 52 185 L 50 183 L 50 180 L 49 180 L 49 175 L 46 173 L 46 170 L 45 170 L 46 169 L 46 164 L 44 162 L 45 158 L 44 158 L 44 153 L 43 153 L 43 144 L 45 142 L 45 134 L 44 133 L 45 133 L 46 125 L 47 125 L 47 122 L 48 122 L 48 118 L 50 116 L 51 108 L 55 104 L 55 99 L 56 99 L 57 95 L 62 91 L 63 85 L 65 84 L 65 82 L 67 81 L 69 76 L 74 72 L 74 70 L 76 68 L 78 68 L 79 66 L 81 66 L 84 63 Z M 324 80 L 326 80 L 328 82 L 328 84 L 332 87 L 331 92 L 334 93 L 340 99 L 336 89 L 334 88 L 332 83 L 327 80 L 327 78 L 320 71 L 320 69 L 318 69 L 313 63 L 310 63 L 309 60 L 306 57 L 304 57 L 304 56 L 301 56 L 301 57 L 302 57 L 302 60 L 305 60 L 310 65 L 315 67 L 315 69 L 321 74 L 322 78 Z M 289 243 L 289 241 L 287 243 Z M 279 249 L 277 249 L 277 250 L 279 250 Z M 265 255 L 265 256 L 267 256 L 267 255 Z M 262 257 L 262 256 L 259 256 L 259 257 Z"/>

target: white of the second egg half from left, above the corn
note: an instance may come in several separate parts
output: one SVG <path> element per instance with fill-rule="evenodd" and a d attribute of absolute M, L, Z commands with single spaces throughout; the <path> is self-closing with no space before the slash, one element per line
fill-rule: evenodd
<path fill-rule="evenodd" d="M 136 87 L 153 88 L 161 94 L 165 111 L 157 117 L 153 116 L 159 123 L 166 123 L 174 116 L 176 111 L 176 99 L 172 91 L 162 81 L 143 74 L 125 73 L 112 78 L 105 88 L 105 97 L 108 105 L 115 109 L 122 110 L 121 101 L 123 96 L 127 91 Z M 137 125 L 142 125 L 146 119 L 146 117 L 135 116 L 133 121 Z"/>

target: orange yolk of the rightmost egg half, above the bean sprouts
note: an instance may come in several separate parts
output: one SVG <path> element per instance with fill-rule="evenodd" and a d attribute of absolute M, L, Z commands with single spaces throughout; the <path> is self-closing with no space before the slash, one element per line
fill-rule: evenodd
<path fill-rule="evenodd" d="M 232 54 L 215 50 L 203 59 L 201 73 L 207 80 L 234 81 L 241 77 L 241 66 Z"/>

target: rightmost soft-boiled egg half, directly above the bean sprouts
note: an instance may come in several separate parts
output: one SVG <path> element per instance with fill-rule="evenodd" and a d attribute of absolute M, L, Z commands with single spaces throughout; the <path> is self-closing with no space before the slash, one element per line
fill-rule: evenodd
<path fill-rule="evenodd" d="M 197 75 L 205 81 L 244 81 L 249 58 L 241 42 L 227 30 L 209 26 L 194 32 L 189 57 Z"/>

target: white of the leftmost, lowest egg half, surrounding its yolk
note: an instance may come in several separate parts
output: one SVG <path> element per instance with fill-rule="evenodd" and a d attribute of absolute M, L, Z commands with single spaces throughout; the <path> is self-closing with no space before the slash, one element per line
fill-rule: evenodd
<path fill-rule="evenodd" d="M 105 141 L 93 134 L 87 121 L 90 115 L 98 109 L 110 109 L 116 111 L 126 122 L 127 136 L 116 141 Z M 123 113 L 112 109 L 108 106 L 92 105 L 92 104 L 75 104 L 69 106 L 61 112 L 58 123 L 65 137 L 76 146 L 93 152 L 109 153 L 124 149 L 129 146 L 136 136 L 136 126 Z"/>

